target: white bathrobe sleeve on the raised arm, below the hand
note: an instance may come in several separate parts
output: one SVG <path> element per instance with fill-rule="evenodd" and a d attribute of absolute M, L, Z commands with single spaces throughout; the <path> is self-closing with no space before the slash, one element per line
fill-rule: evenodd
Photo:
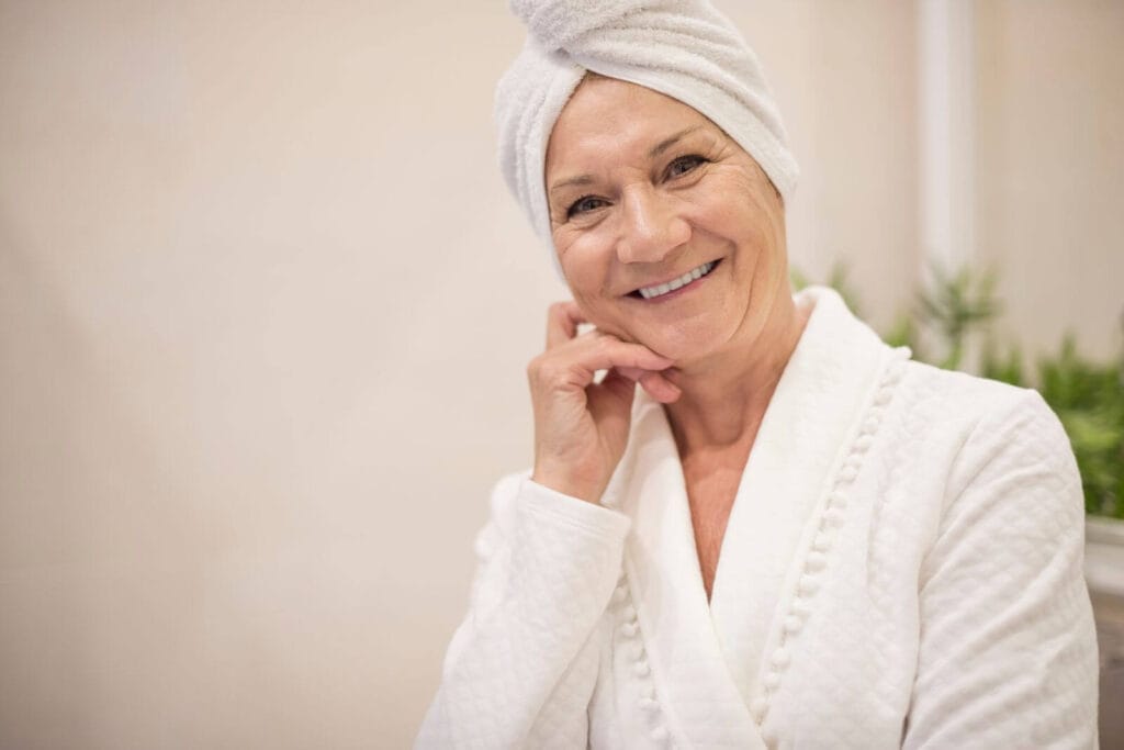
<path fill-rule="evenodd" d="M 523 476 L 478 534 L 469 612 L 416 748 L 584 748 L 591 638 L 620 575 L 629 518 Z"/>

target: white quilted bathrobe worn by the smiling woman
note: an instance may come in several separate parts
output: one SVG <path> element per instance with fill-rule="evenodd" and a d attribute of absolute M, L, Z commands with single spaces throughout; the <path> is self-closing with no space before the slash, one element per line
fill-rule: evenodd
<path fill-rule="evenodd" d="M 638 392 L 601 505 L 497 485 L 417 747 L 1096 747 L 1057 417 L 801 295 L 710 603 L 674 440 Z"/>

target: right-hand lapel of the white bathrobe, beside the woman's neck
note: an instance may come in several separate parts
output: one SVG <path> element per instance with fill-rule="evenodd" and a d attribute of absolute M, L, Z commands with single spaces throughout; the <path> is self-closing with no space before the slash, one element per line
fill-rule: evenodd
<path fill-rule="evenodd" d="M 772 652 L 827 494 L 894 359 L 836 292 L 804 293 L 815 310 L 746 462 L 711 595 L 715 631 L 747 705 L 761 696 L 762 656 Z"/>

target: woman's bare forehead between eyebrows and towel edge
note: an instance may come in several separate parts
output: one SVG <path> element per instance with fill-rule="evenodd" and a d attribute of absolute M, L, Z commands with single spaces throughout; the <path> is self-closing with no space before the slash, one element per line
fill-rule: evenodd
<path fill-rule="evenodd" d="M 546 174 L 607 155 L 646 152 L 670 133 L 715 126 L 698 110 L 652 89 L 589 76 L 559 115 L 546 148 Z"/>

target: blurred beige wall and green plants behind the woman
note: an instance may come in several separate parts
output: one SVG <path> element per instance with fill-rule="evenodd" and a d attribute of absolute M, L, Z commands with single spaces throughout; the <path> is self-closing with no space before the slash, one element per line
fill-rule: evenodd
<path fill-rule="evenodd" d="M 797 282 L 1086 431 L 1120 685 L 1124 3 L 717 4 Z M 410 744 L 565 297 L 496 166 L 522 42 L 498 0 L 0 0 L 0 748 Z"/>

